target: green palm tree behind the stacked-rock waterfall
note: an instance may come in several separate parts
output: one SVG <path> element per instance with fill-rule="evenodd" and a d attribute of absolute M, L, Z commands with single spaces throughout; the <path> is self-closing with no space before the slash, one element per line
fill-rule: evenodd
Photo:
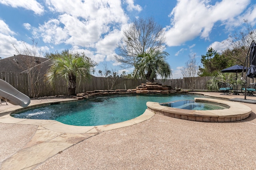
<path fill-rule="evenodd" d="M 169 78 L 172 75 L 170 64 L 165 60 L 169 54 L 164 51 L 150 51 L 139 55 L 136 58 L 134 69 L 134 78 L 146 79 L 148 82 L 154 82 L 158 75 L 162 79 Z"/>

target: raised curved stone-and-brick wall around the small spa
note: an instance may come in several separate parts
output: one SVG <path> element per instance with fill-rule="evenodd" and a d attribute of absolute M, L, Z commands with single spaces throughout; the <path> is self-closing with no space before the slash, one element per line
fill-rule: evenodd
<path fill-rule="evenodd" d="M 173 107 L 161 106 L 157 102 L 147 102 L 148 110 L 169 117 L 190 121 L 202 122 L 230 122 L 240 121 L 249 117 L 252 109 L 240 103 L 229 102 L 211 98 L 195 98 L 197 102 L 212 102 L 229 106 L 228 109 L 220 110 L 188 110 Z"/>

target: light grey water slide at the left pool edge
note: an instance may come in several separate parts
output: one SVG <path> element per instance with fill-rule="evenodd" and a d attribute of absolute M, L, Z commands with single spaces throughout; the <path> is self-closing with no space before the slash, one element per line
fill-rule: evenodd
<path fill-rule="evenodd" d="M 0 79 L 0 99 L 22 107 L 27 107 L 30 104 L 30 98 L 28 96 L 2 79 Z"/>

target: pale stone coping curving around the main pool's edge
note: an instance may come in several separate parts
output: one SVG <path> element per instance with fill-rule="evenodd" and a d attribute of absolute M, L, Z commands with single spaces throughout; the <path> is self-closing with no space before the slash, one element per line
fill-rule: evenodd
<path fill-rule="evenodd" d="M 78 99 L 50 99 L 50 100 L 31 100 L 28 107 L 12 106 L 8 109 L 0 110 L 0 123 L 13 123 L 13 124 L 26 124 L 26 125 L 38 125 L 46 129 L 63 133 L 100 133 L 103 131 L 109 131 L 112 129 L 118 129 L 122 127 L 131 126 L 142 121 L 146 121 L 154 116 L 154 113 L 146 109 L 144 113 L 134 119 L 127 121 L 113 123 L 108 125 L 97 126 L 76 126 L 67 125 L 55 120 L 43 120 L 43 119 L 21 119 L 10 116 L 11 113 L 16 113 L 23 110 L 33 109 L 42 106 L 49 106 L 51 104 L 61 104 L 67 102 L 78 101 Z M 11 105 L 11 104 L 8 104 Z"/>

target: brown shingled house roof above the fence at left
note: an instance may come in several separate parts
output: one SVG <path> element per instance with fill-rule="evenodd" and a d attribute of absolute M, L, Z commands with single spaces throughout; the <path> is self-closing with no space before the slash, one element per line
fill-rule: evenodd
<path fill-rule="evenodd" d="M 45 74 L 50 59 L 27 55 L 14 55 L 0 60 L 0 72 L 33 72 Z"/>

